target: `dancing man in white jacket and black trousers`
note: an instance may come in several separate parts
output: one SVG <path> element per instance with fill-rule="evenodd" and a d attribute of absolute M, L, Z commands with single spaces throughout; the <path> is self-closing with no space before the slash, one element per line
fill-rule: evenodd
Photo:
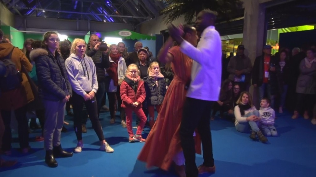
<path fill-rule="evenodd" d="M 222 74 L 222 43 L 214 24 L 216 15 L 203 10 L 197 15 L 196 29 L 201 32 L 197 48 L 185 41 L 182 30 L 169 27 L 169 34 L 181 44 L 181 51 L 192 60 L 191 84 L 186 94 L 183 117 L 180 125 L 181 146 L 185 157 L 186 176 L 215 173 L 212 138 L 210 131 L 210 109 L 219 98 Z M 193 133 L 197 128 L 203 146 L 204 163 L 198 168 L 195 163 Z"/>

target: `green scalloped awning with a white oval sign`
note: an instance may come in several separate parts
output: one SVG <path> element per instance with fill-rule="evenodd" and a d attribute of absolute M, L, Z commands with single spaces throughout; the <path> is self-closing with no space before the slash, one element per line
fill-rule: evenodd
<path fill-rule="evenodd" d="M 137 40 L 156 40 L 155 36 L 149 36 L 145 34 L 140 34 L 134 31 L 130 30 L 118 30 L 118 31 L 112 31 L 112 32 L 105 32 L 102 33 L 102 36 L 104 37 L 120 37 L 125 39 L 137 39 Z"/>

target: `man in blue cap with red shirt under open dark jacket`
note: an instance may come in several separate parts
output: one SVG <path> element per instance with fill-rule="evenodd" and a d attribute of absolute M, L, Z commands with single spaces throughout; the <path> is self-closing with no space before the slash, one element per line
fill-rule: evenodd
<path fill-rule="evenodd" d="M 265 45 L 263 54 L 258 56 L 253 64 L 252 85 L 259 89 L 259 102 L 263 97 L 271 100 L 274 108 L 274 95 L 278 92 L 280 65 L 275 56 L 271 55 L 272 47 Z"/>

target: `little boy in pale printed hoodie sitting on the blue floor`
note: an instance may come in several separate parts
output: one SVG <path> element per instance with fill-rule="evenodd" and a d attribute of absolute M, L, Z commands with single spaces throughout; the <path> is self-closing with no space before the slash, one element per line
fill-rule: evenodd
<path fill-rule="evenodd" d="M 260 129 L 266 136 L 277 136 L 276 128 L 274 127 L 275 111 L 270 107 L 270 99 L 263 98 L 260 102 L 259 116 L 261 118 Z"/>

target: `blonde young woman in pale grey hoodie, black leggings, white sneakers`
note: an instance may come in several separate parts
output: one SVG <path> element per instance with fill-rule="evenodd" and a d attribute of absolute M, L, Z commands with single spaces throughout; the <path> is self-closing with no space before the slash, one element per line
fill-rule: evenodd
<path fill-rule="evenodd" d="M 74 129 L 78 140 L 74 152 L 79 153 L 83 148 L 81 123 L 82 108 L 85 104 L 92 127 L 100 140 L 100 150 L 111 153 L 114 150 L 105 141 L 98 117 L 95 98 L 98 90 L 96 69 L 93 60 L 85 55 L 86 48 L 87 45 L 83 39 L 75 39 L 71 45 L 70 56 L 66 59 L 68 78 L 73 90 Z"/>

